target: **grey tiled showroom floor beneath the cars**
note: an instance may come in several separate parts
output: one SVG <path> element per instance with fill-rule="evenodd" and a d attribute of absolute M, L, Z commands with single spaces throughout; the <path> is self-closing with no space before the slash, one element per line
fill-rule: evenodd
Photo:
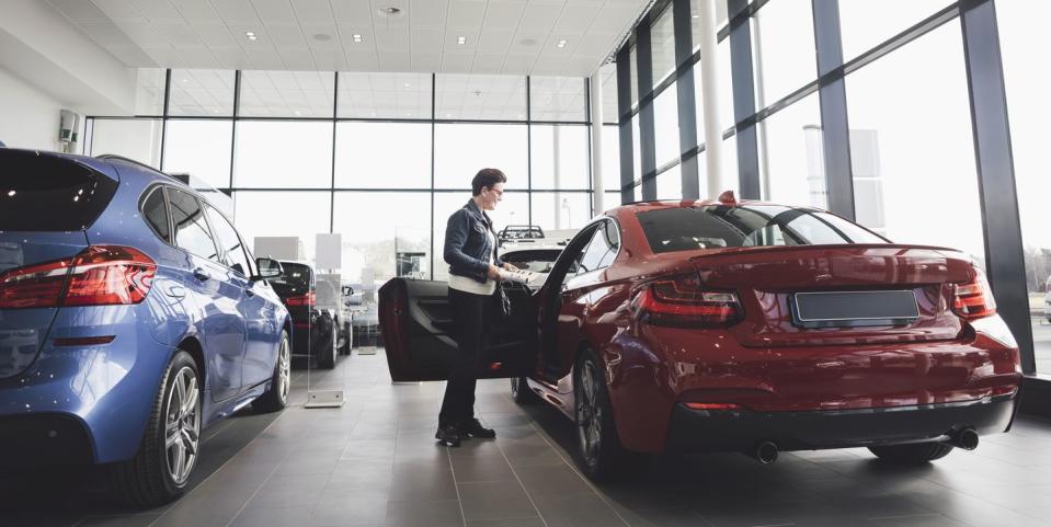
<path fill-rule="evenodd" d="M 306 375 L 294 396 L 302 401 Z M 867 450 L 659 459 L 638 480 L 594 485 L 571 462 L 573 428 L 479 383 L 495 440 L 436 446 L 444 385 L 391 385 L 382 355 L 311 374 L 342 388 L 335 410 L 238 415 L 209 431 L 196 486 L 156 511 L 105 501 L 93 478 L 0 481 L 2 526 L 1029 526 L 1051 525 L 1051 422 L 1021 417 L 928 467 Z M 239 449 L 239 450 L 238 450 Z M 1048 518 L 1048 519 L 1040 519 Z"/>

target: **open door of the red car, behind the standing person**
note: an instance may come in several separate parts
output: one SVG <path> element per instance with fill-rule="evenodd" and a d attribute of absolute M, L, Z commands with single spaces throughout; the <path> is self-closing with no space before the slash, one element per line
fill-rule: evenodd
<path fill-rule="evenodd" d="M 479 379 L 527 377 L 536 371 L 536 308 L 522 284 L 504 283 L 511 316 L 494 312 Z M 495 307 L 495 302 L 493 305 Z M 448 284 L 392 278 L 379 288 L 379 326 L 395 381 L 447 380 L 456 357 Z"/>

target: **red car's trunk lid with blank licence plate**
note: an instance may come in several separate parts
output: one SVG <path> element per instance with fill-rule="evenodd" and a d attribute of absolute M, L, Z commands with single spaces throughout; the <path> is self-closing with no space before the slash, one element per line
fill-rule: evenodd
<path fill-rule="evenodd" d="M 955 339 L 955 284 L 973 273 L 962 253 L 903 244 L 742 248 L 690 261 L 705 286 L 740 296 L 744 320 L 730 331 L 750 347 Z"/>

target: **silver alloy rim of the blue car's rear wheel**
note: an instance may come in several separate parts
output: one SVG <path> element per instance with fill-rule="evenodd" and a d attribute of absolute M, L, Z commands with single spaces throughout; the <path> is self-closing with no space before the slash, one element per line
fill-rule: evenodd
<path fill-rule="evenodd" d="M 168 393 L 164 415 L 164 450 L 168 474 L 175 484 L 190 479 L 197 461 L 197 445 L 201 434 L 201 399 L 197 374 L 183 366 L 175 374 Z"/>

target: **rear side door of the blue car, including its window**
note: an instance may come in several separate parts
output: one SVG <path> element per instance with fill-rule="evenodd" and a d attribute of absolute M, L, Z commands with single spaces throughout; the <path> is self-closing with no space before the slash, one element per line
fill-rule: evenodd
<path fill-rule="evenodd" d="M 212 400 L 222 401 L 240 391 L 245 323 L 240 312 L 244 290 L 231 268 L 222 263 L 205 213 L 192 194 L 169 188 L 175 244 L 186 250 L 184 283 L 201 313 L 198 332 L 205 348 Z"/>

